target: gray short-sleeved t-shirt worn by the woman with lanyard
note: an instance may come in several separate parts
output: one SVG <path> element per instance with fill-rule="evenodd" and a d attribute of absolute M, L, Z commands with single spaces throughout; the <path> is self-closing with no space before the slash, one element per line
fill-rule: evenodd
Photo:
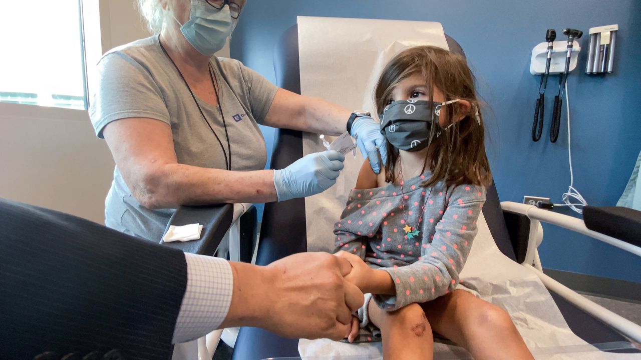
<path fill-rule="evenodd" d="M 210 61 L 219 82 L 219 102 L 231 146 L 231 169 L 260 170 L 265 167 L 267 151 L 258 124 L 265 119 L 278 87 L 240 61 Z M 171 126 L 178 163 L 226 168 L 220 143 L 204 122 L 185 81 L 163 53 L 157 36 L 112 49 L 99 61 L 97 71 L 89 115 L 99 138 L 103 138 L 104 127 L 112 121 L 130 117 L 156 119 Z M 219 108 L 197 96 L 196 99 L 227 151 Z M 105 200 L 108 227 L 160 241 L 174 211 L 150 210 L 140 205 L 115 167 Z"/>

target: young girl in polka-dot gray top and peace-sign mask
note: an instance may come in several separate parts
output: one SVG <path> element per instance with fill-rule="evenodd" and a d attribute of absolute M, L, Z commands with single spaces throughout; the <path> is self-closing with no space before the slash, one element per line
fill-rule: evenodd
<path fill-rule="evenodd" d="M 385 171 L 363 163 L 334 228 L 338 256 L 353 265 L 349 281 L 368 293 L 348 340 L 359 337 L 360 320 L 359 340 L 382 338 L 385 359 L 431 359 L 433 331 L 474 359 L 533 359 L 510 316 L 459 280 L 492 181 L 465 59 L 406 49 L 383 70 L 375 97 Z"/>

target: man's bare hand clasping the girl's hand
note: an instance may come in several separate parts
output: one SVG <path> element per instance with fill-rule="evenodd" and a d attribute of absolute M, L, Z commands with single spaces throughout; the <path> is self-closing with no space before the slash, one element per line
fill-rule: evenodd
<path fill-rule="evenodd" d="M 345 338 L 363 293 L 344 279 L 348 261 L 305 252 L 259 267 L 231 263 L 234 293 L 222 327 L 262 327 L 288 338 Z"/>

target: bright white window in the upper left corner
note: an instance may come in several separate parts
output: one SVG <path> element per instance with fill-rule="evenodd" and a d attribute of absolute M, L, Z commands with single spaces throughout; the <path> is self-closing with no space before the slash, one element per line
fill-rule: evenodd
<path fill-rule="evenodd" d="M 0 102 L 87 108 L 78 0 L 2 1 Z"/>

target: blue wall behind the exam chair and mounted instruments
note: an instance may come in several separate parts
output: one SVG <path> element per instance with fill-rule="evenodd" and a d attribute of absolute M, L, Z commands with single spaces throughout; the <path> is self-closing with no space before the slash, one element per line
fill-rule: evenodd
<path fill-rule="evenodd" d="M 569 95 L 574 186 L 595 206 L 613 206 L 624 190 L 641 150 L 641 1 L 249 1 L 233 35 L 231 56 L 274 81 L 274 44 L 297 15 L 441 22 L 465 50 L 479 92 L 490 104 L 485 112 L 488 152 L 501 200 L 517 202 L 523 195 L 561 202 L 570 181 L 565 123 L 559 141 L 550 143 L 548 111 L 543 140 L 530 139 L 539 81 L 529 74 L 532 47 L 544 41 L 547 28 L 555 28 L 557 40 L 564 40 L 563 28 L 587 33 L 590 27 L 619 24 L 614 74 L 583 74 L 584 36 Z M 548 109 L 557 84 L 556 78 L 549 82 Z M 272 129 L 265 128 L 265 136 L 271 151 Z M 641 282 L 641 261 L 635 256 L 562 229 L 545 226 L 544 231 L 540 254 L 545 267 Z"/>

